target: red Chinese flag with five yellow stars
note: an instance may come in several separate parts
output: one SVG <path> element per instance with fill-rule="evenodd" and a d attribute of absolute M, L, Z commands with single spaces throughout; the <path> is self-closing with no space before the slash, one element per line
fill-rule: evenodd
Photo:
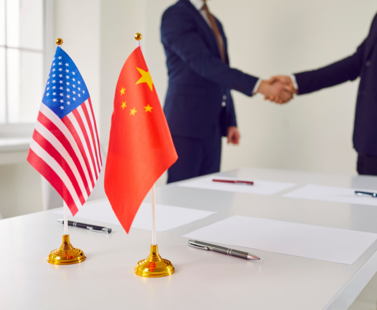
<path fill-rule="evenodd" d="M 106 195 L 127 233 L 145 195 L 177 158 L 138 47 L 124 63 L 116 85 L 105 169 Z"/>

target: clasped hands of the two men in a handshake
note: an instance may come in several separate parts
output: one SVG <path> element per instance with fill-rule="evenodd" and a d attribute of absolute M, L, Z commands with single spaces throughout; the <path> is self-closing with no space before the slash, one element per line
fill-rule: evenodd
<path fill-rule="evenodd" d="M 286 103 L 293 98 L 291 89 L 279 80 L 272 80 L 272 82 L 263 80 L 259 85 L 258 93 L 263 94 L 265 99 L 279 104 Z"/>

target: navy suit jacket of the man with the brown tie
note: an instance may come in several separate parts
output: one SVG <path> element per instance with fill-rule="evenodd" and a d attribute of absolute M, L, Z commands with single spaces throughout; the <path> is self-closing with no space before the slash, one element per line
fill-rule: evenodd
<path fill-rule="evenodd" d="M 227 50 L 227 38 L 216 21 Z M 251 96 L 258 79 L 230 68 L 228 52 L 222 63 L 211 28 L 189 0 L 165 11 L 161 40 L 169 73 L 164 112 L 172 135 L 205 138 L 220 123 L 225 136 L 229 126 L 237 126 L 230 89 Z"/>

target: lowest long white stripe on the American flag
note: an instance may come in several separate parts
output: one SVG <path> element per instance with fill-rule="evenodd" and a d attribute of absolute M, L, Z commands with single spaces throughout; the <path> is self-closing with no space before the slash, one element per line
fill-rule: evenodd
<path fill-rule="evenodd" d="M 55 173 L 61 178 L 62 182 L 64 183 L 65 187 L 67 188 L 69 194 L 71 195 L 74 204 L 78 209 L 81 208 L 81 202 L 79 197 L 76 194 L 76 191 L 73 188 L 73 185 L 63 170 L 63 168 L 60 167 L 60 165 L 56 162 L 56 160 L 50 156 L 34 139 L 31 140 L 30 143 L 30 149 L 37 154 L 42 160 L 50 166 L 52 170 L 55 171 Z"/>

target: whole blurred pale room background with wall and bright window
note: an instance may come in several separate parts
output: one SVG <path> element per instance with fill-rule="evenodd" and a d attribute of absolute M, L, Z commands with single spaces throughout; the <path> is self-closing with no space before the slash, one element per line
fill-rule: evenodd
<path fill-rule="evenodd" d="M 161 103 L 167 90 L 160 41 L 172 0 L 0 0 L 0 212 L 46 208 L 41 177 L 27 162 L 55 39 L 90 91 L 107 150 L 115 85 L 142 45 Z M 372 0 L 209 0 L 228 36 L 231 66 L 261 78 L 315 69 L 352 54 L 366 37 Z M 223 141 L 221 170 L 242 166 L 356 174 L 352 128 L 358 80 L 279 106 L 233 92 L 242 139 Z M 164 175 L 158 184 L 164 184 Z"/>

